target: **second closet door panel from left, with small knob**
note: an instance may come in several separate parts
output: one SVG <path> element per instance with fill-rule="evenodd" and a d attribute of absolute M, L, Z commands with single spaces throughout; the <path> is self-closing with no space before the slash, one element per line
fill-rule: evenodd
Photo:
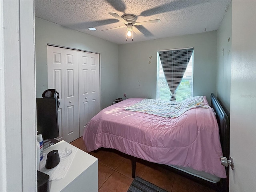
<path fill-rule="evenodd" d="M 78 51 L 64 49 L 66 142 L 79 138 Z"/>

